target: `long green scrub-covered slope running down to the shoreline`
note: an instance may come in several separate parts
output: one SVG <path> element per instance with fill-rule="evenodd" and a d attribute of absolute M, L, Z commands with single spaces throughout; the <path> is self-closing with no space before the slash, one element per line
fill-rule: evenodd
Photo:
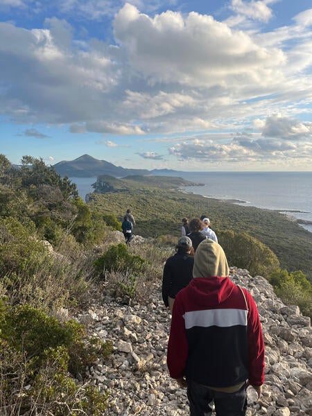
<path fill-rule="evenodd" d="M 157 181 L 156 185 L 149 178 L 146 183 L 142 178 L 134 181 L 131 177 L 128 187 L 127 180 L 122 181 L 123 191 L 94 193 L 89 203 L 103 214 L 116 215 L 119 220 L 125 210 L 131 208 L 137 221 L 135 233 L 146 237 L 179 236 L 184 216 L 192 218 L 205 214 L 217 234 L 225 229 L 247 232 L 277 254 L 281 268 L 302 270 L 312 281 L 312 234 L 283 214 L 170 190 L 166 177 L 157 177 Z"/>

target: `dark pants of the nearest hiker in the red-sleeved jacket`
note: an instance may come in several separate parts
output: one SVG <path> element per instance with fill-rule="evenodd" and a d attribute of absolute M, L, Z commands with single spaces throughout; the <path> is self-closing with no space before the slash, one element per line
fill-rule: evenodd
<path fill-rule="evenodd" d="M 187 380 L 187 397 L 191 416 L 210 416 L 213 405 L 216 416 L 245 416 L 247 408 L 245 385 L 237 392 L 225 393 Z"/>

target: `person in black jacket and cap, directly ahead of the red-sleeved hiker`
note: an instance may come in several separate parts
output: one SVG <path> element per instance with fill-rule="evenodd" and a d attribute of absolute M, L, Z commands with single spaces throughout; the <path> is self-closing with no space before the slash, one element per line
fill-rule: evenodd
<path fill-rule="evenodd" d="M 162 277 L 162 300 L 171 312 L 175 295 L 193 278 L 194 257 L 191 239 L 187 236 L 180 237 L 175 251 L 175 254 L 167 259 Z"/>

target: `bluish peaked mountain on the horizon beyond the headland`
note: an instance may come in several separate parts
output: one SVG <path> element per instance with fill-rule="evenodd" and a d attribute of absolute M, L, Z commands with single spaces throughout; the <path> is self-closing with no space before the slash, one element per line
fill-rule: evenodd
<path fill-rule="evenodd" d="M 127 175 L 149 175 L 147 169 L 128 169 L 115 166 L 106 160 L 94 159 L 89 155 L 77 157 L 77 159 L 56 163 L 55 171 L 60 175 L 68 177 L 95 177 L 99 175 L 110 175 L 114 177 L 124 177 Z"/>

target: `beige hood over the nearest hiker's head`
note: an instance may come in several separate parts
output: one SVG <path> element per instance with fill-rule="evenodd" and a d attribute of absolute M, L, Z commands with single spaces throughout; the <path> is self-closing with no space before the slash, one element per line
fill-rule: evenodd
<path fill-rule="evenodd" d="M 223 248 L 211 239 L 198 245 L 194 257 L 193 277 L 227 277 L 229 266 Z"/>

